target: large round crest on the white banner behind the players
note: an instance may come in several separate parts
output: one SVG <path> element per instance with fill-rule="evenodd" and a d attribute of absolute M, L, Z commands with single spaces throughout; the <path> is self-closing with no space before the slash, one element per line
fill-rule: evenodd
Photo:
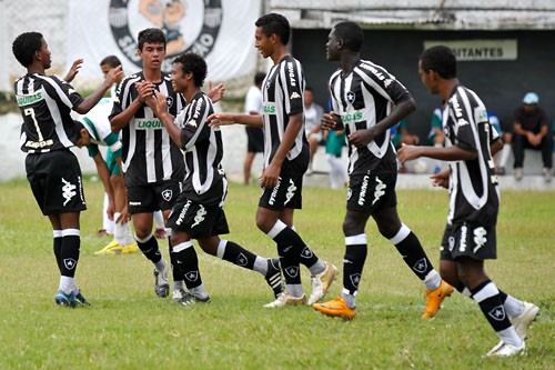
<path fill-rule="evenodd" d="M 108 14 L 115 43 L 139 68 L 142 63 L 137 56 L 137 34 L 147 28 L 163 30 L 167 54 L 162 70 L 169 72 L 178 54 L 210 54 L 220 32 L 223 8 L 222 0 L 111 0 Z"/>

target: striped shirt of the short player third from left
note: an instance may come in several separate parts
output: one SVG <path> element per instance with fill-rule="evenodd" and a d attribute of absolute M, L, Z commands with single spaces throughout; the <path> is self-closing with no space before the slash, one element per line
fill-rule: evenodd
<path fill-rule="evenodd" d="M 223 157 L 220 128 L 210 128 L 206 118 L 214 112 L 212 101 L 198 92 L 178 114 L 181 148 L 185 153 L 186 174 L 183 192 L 188 199 L 202 204 L 223 206 L 228 181 L 221 161 Z"/>

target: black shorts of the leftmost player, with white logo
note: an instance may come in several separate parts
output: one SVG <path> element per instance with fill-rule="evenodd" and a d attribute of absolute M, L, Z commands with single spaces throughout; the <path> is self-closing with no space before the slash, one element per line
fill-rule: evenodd
<path fill-rule="evenodd" d="M 28 154 L 26 171 L 42 214 L 80 212 L 87 209 L 81 168 L 69 149 Z"/>

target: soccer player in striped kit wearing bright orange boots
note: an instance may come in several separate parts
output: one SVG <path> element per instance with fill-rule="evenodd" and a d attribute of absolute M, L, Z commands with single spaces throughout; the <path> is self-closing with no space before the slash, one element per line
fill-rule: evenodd
<path fill-rule="evenodd" d="M 317 311 L 353 319 L 356 292 L 367 254 L 364 229 L 370 217 L 380 233 L 395 246 L 411 270 L 426 287 L 426 310 L 432 318 L 453 288 L 444 282 L 428 260 L 416 236 L 397 214 L 395 183 L 397 160 L 390 140 L 390 128 L 415 108 L 405 87 L 384 68 L 361 60 L 364 33 L 354 22 L 341 22 L 330 32 L 326 53 L 340 69 L 330 78 L 332 108 L 322 118 L 322 127 L 346 130 L 349 140 L 349 196 L 343 221 L 345 257 L 343 291 L 325 303 L 313 304 Z"/>

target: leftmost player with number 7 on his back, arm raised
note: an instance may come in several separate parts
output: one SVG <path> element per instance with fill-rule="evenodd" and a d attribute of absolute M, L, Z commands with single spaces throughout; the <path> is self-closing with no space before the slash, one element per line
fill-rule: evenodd
<path fill-rule="evenodd" d="M 60 286 L 54 297 L 59 306 L 88 304 L 75 282 L 81 237 L 79 217 L 87 209 L 81 168 L 69 150 L 79 134 L 71 110 L 81 114 L 91 110 L 113 84 L 121 68 L 111 70 L 102 86 L 82 98 L 69 83 L 46 76 L 50 50 L 39 32 L 16 38 L 13 56 L 27 68 L 14 83 L 21 110 L 21 150 L 27 152 L 26 171 L 34 199 L 53 230 L 53 251 L 60 270 Z"/>

